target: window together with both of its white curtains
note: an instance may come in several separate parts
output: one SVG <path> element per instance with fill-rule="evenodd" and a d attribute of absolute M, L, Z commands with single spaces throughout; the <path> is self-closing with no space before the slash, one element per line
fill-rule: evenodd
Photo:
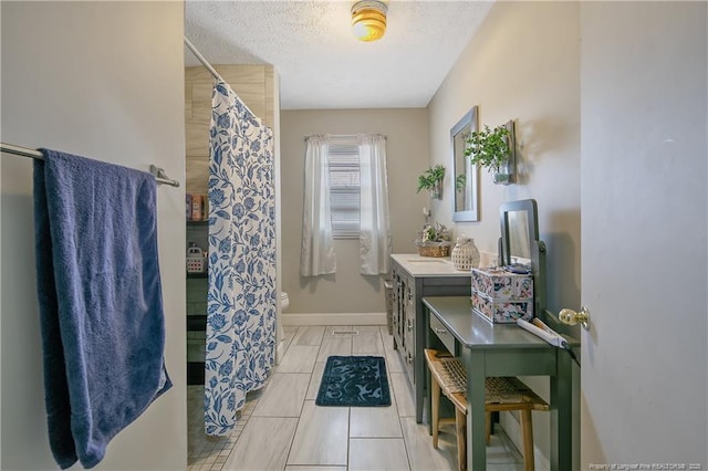
<path fill-rule="evenodd" d="M 386 136 L 313 134 L 305 142 L 300 274 L 335 273 L 334 238 L 360 240 L 360 273 L 387 273 Z"/>

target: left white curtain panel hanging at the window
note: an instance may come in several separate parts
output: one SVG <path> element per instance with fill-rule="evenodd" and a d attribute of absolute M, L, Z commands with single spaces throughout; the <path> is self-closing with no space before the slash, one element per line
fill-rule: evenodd
<path fill-rule="evenodd" d="M 326 136 L 305 139 L 305 188 L 302 214 L 300 274 L 317 276 L 336 271 L 332 218 L 330 216 L 330 168 Z"/>

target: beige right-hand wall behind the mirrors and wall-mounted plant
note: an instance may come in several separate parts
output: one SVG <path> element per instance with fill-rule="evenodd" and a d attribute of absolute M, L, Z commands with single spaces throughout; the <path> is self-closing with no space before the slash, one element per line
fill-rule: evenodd
<path fill-rule="evenodd" d="M 430 102 L 431 163 L 449 166 L 450 127 L 473 105 L 479 124 L 513 119 L 518 184 L 497 186 L 480 172 L 479 222 L 452 224 L 481 250 L 497 252 L 498 208 L 534 198 L 548 245 L 548 307 L 580 307 L 580 7 L 577 2 L 497 2 Z M 447 185 L 450 185 L 447 181 Z M 434 217 L 451 223 L 450 191 Z M 548 398 L 548 380 L 524 378 Z M 510 417 L 510 416 L 509 416 Z M 504 426 L 518 427 L 506 417 Z M 548 415 L 534 416 L 542 454 Z M 513 433 L 513 432 L 512 432 Z"/>

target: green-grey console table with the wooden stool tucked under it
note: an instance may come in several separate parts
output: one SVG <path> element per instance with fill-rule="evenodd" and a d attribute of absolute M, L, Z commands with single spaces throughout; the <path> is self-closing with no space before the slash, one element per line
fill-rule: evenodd
<path fill-rule="evenodd" d="M 446 346 L 467 368 L 467 469 L 487 469 L 487 376 L 550 376 L 551 470 L 579 469 L 580 458 L 573 452 L 573 402 L 577 400 L 574 395 L 577 396 L 579 388 L 573 385 L 569 353 L 516 324 L 492 325 L 471 312 L 469 296 L 424 297 L 423 304 L 430 326 L 427 347 Z M 577 345 L 570 337 L 569 342 Z"/>

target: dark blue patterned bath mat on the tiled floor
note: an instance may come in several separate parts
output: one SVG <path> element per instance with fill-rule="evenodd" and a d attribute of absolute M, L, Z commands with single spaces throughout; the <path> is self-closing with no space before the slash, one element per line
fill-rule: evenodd
<path fill-rule="evenodd" d="M 317 406 L 391 406 L 386 360 L 381 356 L 331 356 L 324 366 Z"/>

